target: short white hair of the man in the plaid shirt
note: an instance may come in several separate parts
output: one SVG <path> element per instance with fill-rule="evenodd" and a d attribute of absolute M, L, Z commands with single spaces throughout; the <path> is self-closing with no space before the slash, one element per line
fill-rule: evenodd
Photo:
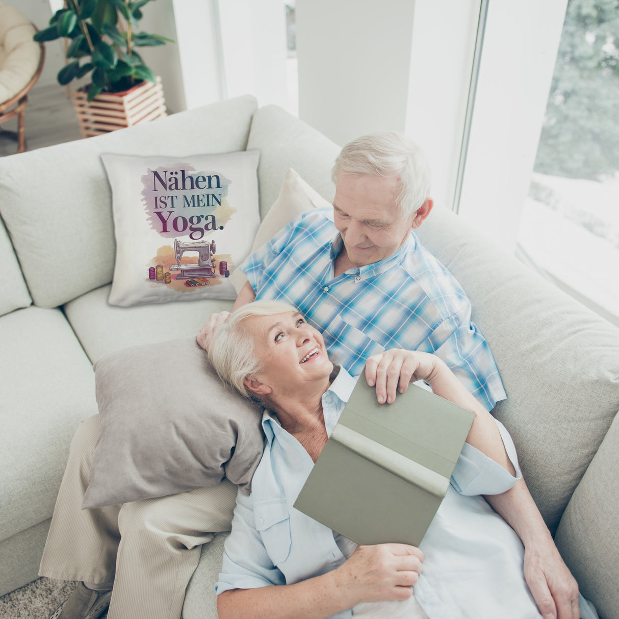
<path fill-rule="evenodd" d="M 340 174 L 396 177 L 396 207 L 409 217 L 430 196 L 430 164 L 423 150 L 408 137 L 394 131 L 371 133 L 348 142 L 331 171 L 337 183 Z"/>

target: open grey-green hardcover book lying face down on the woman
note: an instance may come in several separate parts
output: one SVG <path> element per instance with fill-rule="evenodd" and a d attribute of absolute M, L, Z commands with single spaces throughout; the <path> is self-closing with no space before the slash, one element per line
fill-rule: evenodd
<path fill-rule="evenodd" d="M 418 546 L 474 418 L 415 384 L 378 404 L 361 375 L 294 506 L 358 544 Z"/>

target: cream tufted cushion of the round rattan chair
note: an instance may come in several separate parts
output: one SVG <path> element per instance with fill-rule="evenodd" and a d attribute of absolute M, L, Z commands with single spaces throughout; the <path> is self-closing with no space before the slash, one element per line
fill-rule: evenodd
<path fill-rule="evenodd" d="M 17 95 L 37 72 L 41 48 L 25 15 L 0 3 L 0 102 Z"/>

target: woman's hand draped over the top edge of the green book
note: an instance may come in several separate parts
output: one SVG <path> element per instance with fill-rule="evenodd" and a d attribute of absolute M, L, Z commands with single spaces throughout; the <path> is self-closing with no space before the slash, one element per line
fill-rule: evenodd
<path fill-rule="evenodd" d="M 409 383 L 430 381 L 439 363 L 442 361 L 430 353 L 391 348 L 368 359 L 365 379 L 370 387 L 376 385 L 379 404 L 392 404 L 396 391 L 404 393 Z"/>

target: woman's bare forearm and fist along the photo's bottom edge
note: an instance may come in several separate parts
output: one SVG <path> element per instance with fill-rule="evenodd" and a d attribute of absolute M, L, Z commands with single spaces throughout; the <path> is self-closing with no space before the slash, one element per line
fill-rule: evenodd
<path fill-rule="evenodd" d="M 423 553 L 405 544 L 360 546 L 333 571 L 290 585 L 232 589 L 217 597 L 220 619 L 323 619 L 359 602 L 405 600 Z"/>

